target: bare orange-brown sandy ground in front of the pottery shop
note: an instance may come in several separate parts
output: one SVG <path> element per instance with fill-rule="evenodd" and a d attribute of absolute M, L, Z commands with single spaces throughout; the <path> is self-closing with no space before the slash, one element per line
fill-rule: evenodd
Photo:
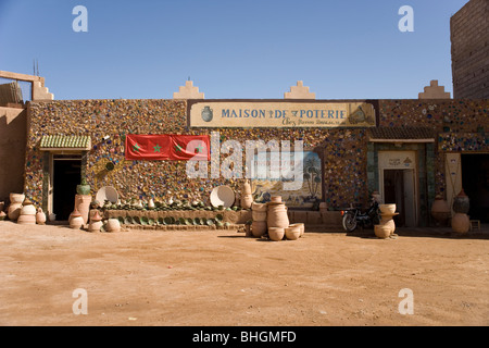
<path fill-rule="evenodd" d="M 397 233 L 275 243 L 0 222 L 0 325 L 489 325 L 489 231 Z"/>

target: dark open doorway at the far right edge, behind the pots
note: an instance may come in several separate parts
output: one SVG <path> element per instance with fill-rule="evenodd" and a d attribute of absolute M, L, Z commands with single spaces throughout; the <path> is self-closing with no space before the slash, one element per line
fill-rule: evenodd
<path fill-rule="evenodd" d="M 471 200 L 471 220 L 489 223 L 489 153 L 462 154 L 462 187 Z"/>

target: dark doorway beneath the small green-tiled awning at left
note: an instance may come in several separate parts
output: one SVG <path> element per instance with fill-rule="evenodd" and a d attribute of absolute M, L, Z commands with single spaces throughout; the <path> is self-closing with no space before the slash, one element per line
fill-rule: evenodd
<path fill-rule="evenodd" d="M 54 158 L 52 208 L 58 221 L 67 221 L 75 207 L 76 186 L 82 175 L 82 160 Z"/>

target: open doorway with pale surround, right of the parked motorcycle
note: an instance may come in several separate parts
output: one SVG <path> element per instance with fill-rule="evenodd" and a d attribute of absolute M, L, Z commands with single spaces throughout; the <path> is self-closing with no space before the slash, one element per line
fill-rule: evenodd
<path fill-rule="evenodd" d="M 414 170 L 384 170 L 384 202 L 396 203 L 398 226 L 416 226 L 416 187 Z"/>

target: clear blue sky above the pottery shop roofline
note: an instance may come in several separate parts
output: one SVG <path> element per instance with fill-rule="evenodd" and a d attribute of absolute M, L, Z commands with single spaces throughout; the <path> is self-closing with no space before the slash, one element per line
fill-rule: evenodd
<path fill-rule="evenodd" d="M 467 0 L 0 0 L 0 70 L 33 74 L 55 99 L 165 99 L 188 77 L 206 99 L 317 99 L 452 92 L 450 16 Z M 88 33 L 75 33 L 76 5 Z M 402 5 L 414 32 L 402 33 Z"/>

